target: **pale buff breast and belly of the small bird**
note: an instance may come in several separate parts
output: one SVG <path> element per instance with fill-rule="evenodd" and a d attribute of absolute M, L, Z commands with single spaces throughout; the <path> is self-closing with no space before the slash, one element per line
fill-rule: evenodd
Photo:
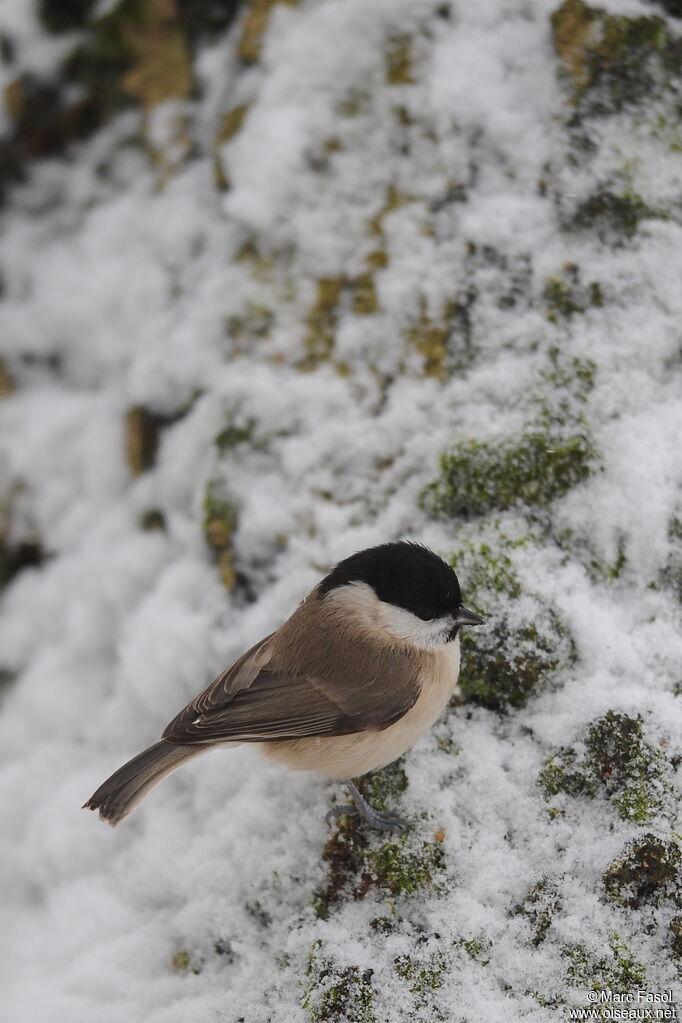
<path fill-rule="evenodd" d="M 430 670 L 422 680 L 416 702 L 388 728 L 350 736 L 261 743 L 259 748 L 289 768 L 314 770 L 329 779 L 359 777 L 397 760 L 431 727 L 455 692 L 459 639 L 428 656 Z"/>

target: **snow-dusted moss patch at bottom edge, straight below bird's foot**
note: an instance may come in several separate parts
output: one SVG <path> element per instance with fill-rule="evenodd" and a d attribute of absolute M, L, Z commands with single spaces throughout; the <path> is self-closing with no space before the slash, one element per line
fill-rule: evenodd
<path fill-rule="evenodd" d="M 318 940 L 308 957 L 308 985 L 303 1008 L 311 1023 L 375 1023 L 372 970 L 339 967 Z"/>

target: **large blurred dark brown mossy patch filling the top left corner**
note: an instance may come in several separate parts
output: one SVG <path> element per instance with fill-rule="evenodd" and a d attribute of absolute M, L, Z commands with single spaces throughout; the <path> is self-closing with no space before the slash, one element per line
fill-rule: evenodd
<path fill-rule="evenodd" d="M 3 141 L 0 177 L 8 182 L 20 177 L 28 162 L 63 151 L 126 106 L 148 109 L 187 98 L 194 87 L 190 50 L 207 33 L 227 26 L 236 5 L 237 0 L 118 0 L 97 16 L 93 0 L 39 0 L 48 31 L 74 32 L 73 44 L 54 78 L 26 74 L 10 82 L 6 98 L 14 123 Z M 177 141 L 182 140 L 179 132 Z"/>

